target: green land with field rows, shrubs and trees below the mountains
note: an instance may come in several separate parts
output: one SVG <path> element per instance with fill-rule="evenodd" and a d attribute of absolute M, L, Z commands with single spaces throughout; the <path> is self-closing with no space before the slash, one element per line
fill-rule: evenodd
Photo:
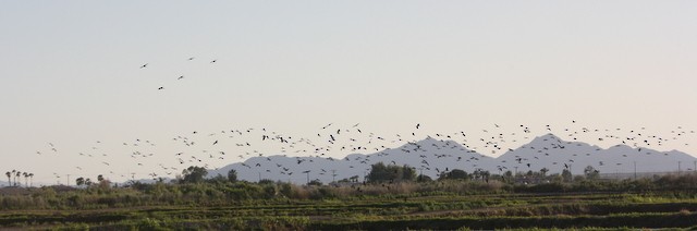
<path fill-rule="evenodd" d="M 370 182 L 296 185 L 206 179 L 191 167 L 169 183 L 0 189 L 0 229 L 467 230 L 695 229 L 696 174 L 607 181 L 592 169 L 565 181 L 546 172 L 453 169 L 436 181 L 376 165 Z M 14 175 L 14 174 L 13 174 Z M 12 175 L 11 175 L 12 177 Z M 83 178 L 87 182 L 86 178 Z"/>

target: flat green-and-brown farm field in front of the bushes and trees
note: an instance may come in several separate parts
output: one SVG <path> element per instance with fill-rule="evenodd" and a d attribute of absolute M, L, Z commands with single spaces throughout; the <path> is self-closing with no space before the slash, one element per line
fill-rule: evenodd
<path fill-rule="evenodd" d="M 35 191 L 46 191 L 36 189 Z M 124 193 L 125 191 L 119 192 Z M 65 198 L 75 199 L 76 192 Z M 344 198 L 188 200 L 137 206 L 84 204 L 8 209 L 1 229 L 91 230 L 480 230 L 695 229 L 697 194 L 508 193 L 358 195 Z M 37 192 L 26 195 L 37 198 Z M 2 197 L 3 205 L 17 196 Z M 60 196 L 59 196 L 60 197 Z M 107 200 L 108 196 L 98 199 Z M 131 199 L 138 198 L 134 195 Z M 144 199 L 145 197 L 139 197 Z M 89 199 L 89 198 L 83 198 Z M 152 205 L 148 205 L 152 204 Z M 188 204 L 188 205 L 187 205 Z M 91 207 L 90 206 L 95 206 Z"/>

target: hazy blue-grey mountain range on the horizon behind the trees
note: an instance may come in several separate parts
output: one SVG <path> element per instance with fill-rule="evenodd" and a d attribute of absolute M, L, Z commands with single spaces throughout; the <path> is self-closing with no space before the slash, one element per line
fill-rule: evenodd
<path fill-rule="evenodd" d="M 505 171 L 539 171 L 549 169 L 549 174 L 568 168 L 574 174 L 583 174 L 587 166 L 600 173 L 693 171 L 697 158 L 682 151 L 658 151 L 644 147 L 615 145 L 603 149 L 582 142 L 566 142 L 553 134 L 534 138 L 530 143 L 492 158 L 467 149 L 454 141 L 439 141 L 431 137 L 416 143 L 407 143 L 398 148 L 363 155 L 351 154 L 342 159 L 322 157 L 254 157 L 244 162 L 232 163 L 218 170 L 210 170 L 209 177 L 227 175 L 235 169 L 237 178 L 246 181 L 270 179 L 306 183 L 309 180 L 331 182 L 358 175 L 360 180 L 377 162 L 384 165 L 407 165 L 417 172 L 437 178 L 440 172 L 476 169 L 492 173 Z"/>

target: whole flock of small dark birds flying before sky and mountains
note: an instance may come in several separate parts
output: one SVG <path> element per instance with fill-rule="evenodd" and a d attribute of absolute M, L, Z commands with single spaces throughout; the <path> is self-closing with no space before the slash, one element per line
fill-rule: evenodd
<path fill-rule="evenodd" d="M 191 57 L 186 61 L 194 61 L 196 58 Z M 218 60 L 213 59 L 209 63 L 217 63 Z M 149 68 L 149 63 L 140 65 L 140 69 Z M 184 75 L 176 76 L 176 81 L 184 78 Z M 159 90 L 163 90 L 164 86 L 159 86 Z M 159 178 L 174 178 L 181 173 L 181 171 L 189 166 L 200 166 L 207 169 L 218 169 L 220 166 L 231 163 L 231 161 L 243 161 L 252 157 L 266 157 L 267 162 L 256 162 L 254 165 L 242 163 L 245 168 L 261 168 L 264 165 L 264 171 L 270 173 L 278 173 L 284 175 L 292 175 L 293 168 L 284 166 L 288 163 L 273 163 L 271 162 L 273 155 L 293 156 L 295 157 L 295 165 L 303 165 L 304 162 L 311 162 L 314 158 L 325 158 L 330 161 L 345 161 L 351 168 L 366 168 L 369 167 L 371 161 L 369 156 L 366 157 L 343 157 L 338 156 L 355 154 L 355 153 L 376 153 L 377 156 L 389 155 L 386 150 L 391 150 L 396 146 L 403 144 L 412 144 L 409 148 L 402 148 L 399 151 L 404 154 L 418 155 L 423 160 L 418 167 L 420 170 L 426 171 L 448 171 L 448 169 L 432 168 L 429 165 L 431 158 L 442 158 L 438 154 L 432 156 L 421 154 L 419 150 L 424 150 L 417 144 L 418 139 L 424 137 L 432 137 L 435 139 L 444 141 L 444 145 L 437 148 L 467 148 L 472 153 L 482 151 L 485 154 L 491 154 L 492 156 L 501 155 L 505 151 L 513 150 L 518 141 L 528 139 L 539 133 L 559 133 L 566 135 L 573 141 L 586 135 L 597 138 L 598 142 L 612 141 L 621 142 L 627 146 L 633 147 L 649 147 L 649 146 L 662 146 L 667 143 L 677 142 L 687 135 L 692 135 L 695 131 L 683 129 L 677 126 L 676 130 L 671 132 L 669 136 L 661 136 L 657 134 L 648 134 L 644 127 L 637 130 L 626 129 L 587 129 L 579 125 L 576 121 L 571 121 L 571 129 L 564 127 L 561 130 L 554 130 L 550 125 L 546 125 L 542 129 L 536 130 L 526 125 L 516 125 L 511 129 L 504 130 L 499 124 L 493 124 L 490 129 L 482 130 L 479 134 L 485 134 L 482 137 L 472 137 L 467 135 L 465 131 L 457 131 L 451 133 L 436 133 L 426 134 L 423 131 L 421 124 L 416 123 L 411 132 L 402 134 L 378 134 L 370 132 L 360 126 L 359 123 L 346 126 L 340 126 L 338 124 L 328 123 L 318 127 L 316 135 L 308 137 L 296 137 L 289 134 L 283 134 L 277 131 L 268 130 L 266 127 L 245 127 L 245 129 L 222 129 L 216 132 L 199 132 L 189 131 L 184 134 L 174 135 L 168 138 L 170 142 L 161 145 L 161 142 L 155 142 L 155 139 L 133 138 L 126 142 L 101 142 L 96 141 L 89 148 L 84 151 L 77 153 L 63 153 L 58 149 L 58 145 L 48 143 L 47 149 L 37 150 L 37 155 L 44 155 L 46 153 L 54 155 L 74 155 L 75 158 L 80 158 L 77 161 L 81 165 L 74 167 L 74 170 L 70 173 L 73 175 L 86 175 L 87 168 L 95 168 L 99 166 L 105 172 L 101 172 L 107 178 L 112 179 L 159 179 Z M 508 131 L 508 132 L 504 132 Z M 511 132 L 513 131 L 513 132 Z M 534 134 L 535 132 L 535 134 Z M 623 134 L 621 134 L 623 133 Z M 105 143 L 109 143 L 111 147 L 107 147 Z M 120 148 L 114 148 L 113 145 L 119 144 Z M 559 144 L 560 146 L 563 144 Z M 688 145 L 688 144 L 684 144 Z M 158 150 L 159 147 L 163 146 Z M 436 146 L 436 145 L 435 145 Z M 404 146 L 403 146 L 404 147 Z M 531 147 L 535 148 L 535 147 Z M 540 150 L 555 147 L 539 147 Z M 641 149 L 639 148 L 639 151 Z M 114 154 L 118 153 L 118 154 Z M 124 161 L 122 156 L 127 155 L 131 161 Z M 113 158 L 119 156 L 118 158 Z M 484 157 L 484 156 L 481 156 Z M 454 161 L 476 162 L 479 160 L 477 156 L 472 156 L 467 159 L 457 157 Z M 516 157 L 514 161 L 519 165 L 524 163 L 528 157 Z M 531 157 L 529 157 L 531 158 Z M 539 158 L 539 157 L 535 157 Z M 85 161 L 83 161 L 85 160 Z M 573 159 L 571 160 L 573 162 Z M 84 165 L 89 163 L 89 165 Z M 391 161 L 390 165 L 396 165 Z M 560 163 L 561 165 L 561 163 Z M 563 163 L 568 168 L 567 163 Z M 603 165 L 600 162 L 600 165 Z M 276 171 L 269 169 L 271 166 Z M 476 163 L 474 163 L 476 166 Z M 500 166 L 499 170 L 503 170 L 505 166 Z M 366 169 L 369 170 L 369 169 Z M 77 172 L 75 172 L 77 171 Z M 327 169 L 322 169 L 320 174 L 328 174 Z M 107 173 L 108 172 L 108 173 Z M 309 170 L 305 170 L 297 173 L 308 173 Z M 54 172 L 53 177 L 59 182 L 61 177 L 66 173 Z M 70 181 L 68 182 L 70 184 Z"/>

